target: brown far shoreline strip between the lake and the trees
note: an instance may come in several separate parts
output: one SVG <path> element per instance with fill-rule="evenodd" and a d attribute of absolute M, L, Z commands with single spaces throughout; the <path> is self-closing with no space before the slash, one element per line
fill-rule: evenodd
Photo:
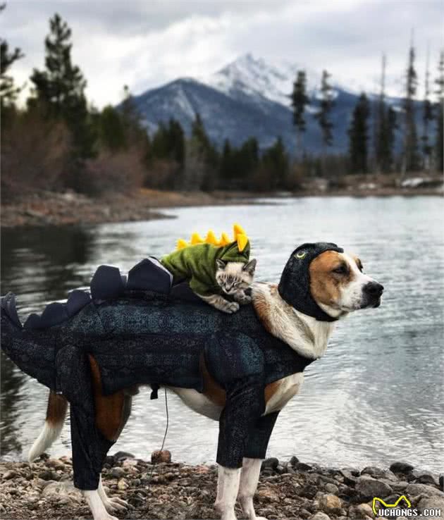
<path fill-rule="evenodd" d="M 414 184 L 414 183 L 413 183 Z M 88 225 L 171 218 L 158 211 L 186 206 L 261 204 L 257 199 L 288 197 L 417 197 L 442 196 L 440 178 L 423 186 L 397 187 L 373 180 L 326 186 L 308 182 L 297 192 L 172 192 L 142 188 L 134 194 L 109 194 L 91 198 L 75 192 L 39 191 L 1 205 L 1 228 L 45 225 Z"/>

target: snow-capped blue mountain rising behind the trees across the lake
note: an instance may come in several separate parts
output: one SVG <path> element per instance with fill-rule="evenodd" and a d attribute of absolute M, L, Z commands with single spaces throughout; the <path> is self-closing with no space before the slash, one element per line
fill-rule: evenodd
<path fill-rule="evenodd" d="M 222 147 L 226 139 L 238 146 L 254 136 L 264 149 L 280 136 L 293 154 L 295 128 L 292 125 L 290 92 L 297 70 L 307 73 L 309 105 L 304 149 L 316 153 L 322 147 L 321 132 L 314 118 L 319 111 L 321 71 L 309 70 L 302 64 L 269 64 L 245 54 L 214 74 L 198 80 L 179 78 L 144 92 L 135 97 L 135 101 L 150 132 L 159 122 L 170 118 L 178 120 L 185 132 L 190 132 L 192 120 L 199 113 L 209 137 L 218 147 Z M 334 139 L 329 151 L 345 152 L 347 129 L 359 92 L 335 83 L 333 78 L 331 85 L 335 99 L 331 111 Z M 390 99 L 390 104 L 398 109 L 400 99 Z"/>

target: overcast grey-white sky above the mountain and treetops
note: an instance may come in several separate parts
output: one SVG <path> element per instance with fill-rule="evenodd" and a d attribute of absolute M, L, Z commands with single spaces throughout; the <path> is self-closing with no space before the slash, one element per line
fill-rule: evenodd
<path fill-rule="evenodd" d="M 401 94 L 411 29 L 421 81 L 427 46 L 433 74 L 443 47 L 442 0 L 10 0 L 1 34 L 25 53 L 13 66 L 19 84 L 42 68 L 55 12 L 73 30 L 73 61 L 99 107 L 120 101 L 124 84 L 140 94 L 208 75 L 247 52 L 376 89 L 385 51 L 390 93 Z"/>

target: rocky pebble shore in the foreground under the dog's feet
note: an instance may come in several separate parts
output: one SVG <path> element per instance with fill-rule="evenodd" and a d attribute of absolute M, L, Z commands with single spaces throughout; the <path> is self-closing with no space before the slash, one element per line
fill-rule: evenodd
<path fill-rule="evenodd" d="M 106 458 L 102 473 L 106 491 L 111 497 L 128 502 L 128 509 L 116 511 L 119 519 L 218 517 L 213 507 L 215 465 L 156 462 L 154 456 L 151 462 L 124 452 Z M 158 459 L 171 461 L 169 452 L 162 452 Z M 72 479 L 70 457 L 51 459 L 44 454 L 32 466 L 26 462 L 1 463 L 1 519 L 91 518 Z M 393 504 L 406 495 L 419 514 L 425 509 L 436 509 L 444 517 L 443 485 L 443 476 L 414 469 L 405 462 L 395 462 L 390 469 L 368 466 L 359 471 L 305 464 L 297 457 L 288 462 L 271 458 L 262 464 L 254 504 L 257 515 L 269 520 L 367 520 L 375 517 L 373 497 Z M 401 500 L 396 509 L 405 507 L 407 504 Z M 243 518 L 238 506 L 236 513 Z"/>

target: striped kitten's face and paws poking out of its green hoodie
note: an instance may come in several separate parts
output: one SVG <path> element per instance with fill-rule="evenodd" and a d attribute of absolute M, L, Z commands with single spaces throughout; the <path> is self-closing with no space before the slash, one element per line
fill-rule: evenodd
<path fill-rule="evenodd" d="M 223 293 L 233 297 L 235 301 L 230 302 L 222 295 L 197 296 L 218 311 L 233 314 L 239 310 L 240 305 L 247 305 L 252 301 L 252 297 L 246 291 L 252 285 L 255 269 L 256 259 L 250 260 L 247 264 L 216 260 L 216 282 Z"/>

